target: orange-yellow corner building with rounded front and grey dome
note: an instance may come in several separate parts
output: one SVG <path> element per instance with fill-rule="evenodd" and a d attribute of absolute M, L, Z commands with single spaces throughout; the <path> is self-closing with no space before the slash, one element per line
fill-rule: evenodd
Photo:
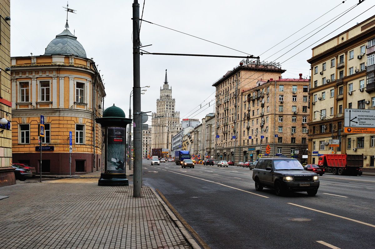
<path fill-rule="evenodd" d="M 39 173 L 38 124 L 44 116 L 42 173 L 79 174 L 101 169 L 104 85 L 95 62 L 68 29 L 39 56 L 12 57 L 13 163 Z M 72 133 L 69 168 L 70 132 Z"/>

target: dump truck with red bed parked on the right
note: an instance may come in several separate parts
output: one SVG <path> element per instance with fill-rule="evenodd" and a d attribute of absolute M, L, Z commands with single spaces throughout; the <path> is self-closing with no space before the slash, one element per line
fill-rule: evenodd
<path fill-rule="evenodd" d="M 323 167 L 326 172 L 332 174 L 350 174 L 353 176 L 362 175 L 363 154 L 362 155 L 321 155 L 319 157 L 318 165 Z"/>

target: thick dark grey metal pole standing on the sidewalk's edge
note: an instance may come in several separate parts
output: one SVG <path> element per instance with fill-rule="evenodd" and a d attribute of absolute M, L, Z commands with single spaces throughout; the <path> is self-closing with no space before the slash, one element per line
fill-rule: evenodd
<path fill-rule="evenodd" d="M 140 83 L 140 58 L 139 47 L 139 4 L 133 2 L 133 197 L 141 197 L 142 187 L 142 158 L 141 158 L 141 83 Z"/>

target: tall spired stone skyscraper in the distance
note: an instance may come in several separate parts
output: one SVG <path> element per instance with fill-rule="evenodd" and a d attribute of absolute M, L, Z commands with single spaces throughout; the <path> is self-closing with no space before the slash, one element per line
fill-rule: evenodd
<path fill-rule="evenodd" d="M 151 119 L 152 155 L 173 157 L 171 155 L 172 137 L 181 130 L 180 112 L 175 111 L 175 99 L 172 98 L 172 87 L 169 88 L 166 70 L 163 87 L 160 87 L 160 98 L 156 100 L 156 113 Z M 168 153 L 162 153 L 162 152 Z"/>

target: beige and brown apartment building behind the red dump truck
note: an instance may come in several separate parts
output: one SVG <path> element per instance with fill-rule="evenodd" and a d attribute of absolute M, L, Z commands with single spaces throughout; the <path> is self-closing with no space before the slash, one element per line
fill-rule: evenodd
<path fill-rule="evenodd" d="M 345 109 L 375 109 L 374 57 L 375 16 L 312 48 L 309 163 L 322 154 L 363 154 L 365 168 L 374 167 L 374 134 L 344 132 Z"/>

